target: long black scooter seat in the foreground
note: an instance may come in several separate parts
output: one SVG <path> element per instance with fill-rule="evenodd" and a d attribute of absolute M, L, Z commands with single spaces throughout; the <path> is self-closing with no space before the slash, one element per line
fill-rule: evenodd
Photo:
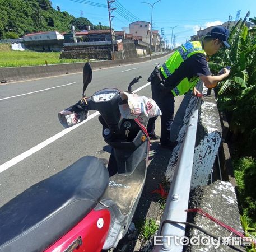
<path fill-rule="evenodd" d="M 44 251 L 93 209 L 109 174 L 92 156 L 31 186 L 0 208 L 0 251 Z"/>

